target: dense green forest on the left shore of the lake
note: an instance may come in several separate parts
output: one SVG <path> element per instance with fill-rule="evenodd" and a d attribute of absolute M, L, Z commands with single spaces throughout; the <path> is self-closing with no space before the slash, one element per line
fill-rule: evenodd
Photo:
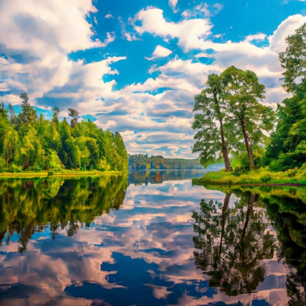
<path fill-rule="evenodd" d="M 21 94 L 22 110 L 16 115 L 11 104 L 0 106 L 0 172 L 48 170 L 128 170 L 128 153 L 121 135 L 103 131 L 90 119 L 78 122 L 79 113 L 69 109 L 59 122 L 59 108 L 52 119 L 37 115 L 27 94 Z"/>

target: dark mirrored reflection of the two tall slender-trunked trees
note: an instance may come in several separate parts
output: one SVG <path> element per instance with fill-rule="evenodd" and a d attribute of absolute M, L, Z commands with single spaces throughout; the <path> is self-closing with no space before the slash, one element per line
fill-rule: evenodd
<path fill-rule="evenodd" d="M 200 202 L 195 219 L 194 252 L 197 268 L 211 276 L 209 285 L 229 296 L 251 293 L 263 281 L 263 259 L 271 259 L 275 239 L 267 231 L 263 210 L 254 207 L 254 194 L 242 193 L 229 207 L 231 194 L 223 205 L 213 200 Z"/>

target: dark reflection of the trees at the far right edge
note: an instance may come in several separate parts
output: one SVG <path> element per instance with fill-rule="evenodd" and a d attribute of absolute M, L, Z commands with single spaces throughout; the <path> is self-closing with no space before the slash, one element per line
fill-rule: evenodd
<path fill-rule="evenodd" d="M 269 197 L 267 215 L 273 221 L 279 240 L 278 258 L 285 262 L 290 306 L 306 305 L 306 199 Z"/>

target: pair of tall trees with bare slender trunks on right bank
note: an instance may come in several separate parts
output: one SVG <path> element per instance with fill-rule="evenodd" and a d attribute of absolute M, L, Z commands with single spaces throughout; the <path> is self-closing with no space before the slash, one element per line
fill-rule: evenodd
<path fill-rule="evenodd" d="M 261 164 L 276 116 L 259 102 L 265 91 L 256 74 L 230 66 L 220 76 L 209 75 L 206 85 L 195 96 L 194 111 L 199 112 L 192 127 L 199 131 L 193 152 L 204 167 L 224 159 L 229 172 L 228 154 L 240 158 L 243 167 L 245 156 L 249 168 Z"/>

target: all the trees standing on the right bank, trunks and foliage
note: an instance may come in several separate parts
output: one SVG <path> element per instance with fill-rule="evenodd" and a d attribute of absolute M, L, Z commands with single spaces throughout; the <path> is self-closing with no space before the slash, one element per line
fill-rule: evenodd
<path fill-rule="evenodd" d="M 282 86 L 293 96 L 276 111 L 262 104 L 265 87 L 256 74 L 235 66 L 210 74 L 195 96 L 193 152 L 204 167 L 223 161 L 232 172 L 231 161 L 239 160 L 248 169 L 286 171 L 306 163 L 306 23 L 285 42 Z"/>

